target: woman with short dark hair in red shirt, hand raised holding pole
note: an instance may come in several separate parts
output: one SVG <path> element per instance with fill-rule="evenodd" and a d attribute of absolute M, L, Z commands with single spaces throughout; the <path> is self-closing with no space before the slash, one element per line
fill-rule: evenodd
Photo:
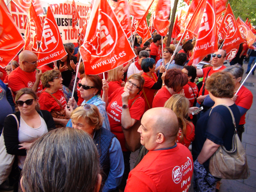
<path fill-rule="evenodd" d="M 144 88 L 140 96 L 145 101 L 145 111 L 152 108 L 152 103 L 156 92 L 162 88 L 162 83 L 165 77 L 164 66 L 160 67 L 159 76 L 155 73 L 156 62 L 153 58 L 145 58 L 141 62 L 141 69 L 143 70 L 142 77 L 145 79 Z"/>

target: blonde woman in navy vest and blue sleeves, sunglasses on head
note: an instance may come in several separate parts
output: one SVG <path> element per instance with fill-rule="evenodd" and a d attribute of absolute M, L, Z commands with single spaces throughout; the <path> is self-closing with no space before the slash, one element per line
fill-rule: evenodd
<path fill-rule="evenodd" d="M 87 132 L 99 153 L 100 167 L 103 170 L 102 191 L 119 191 L 124 163 L 122 150 L 116 136 L 102 126 L 103 118 L 96 105 L 85 104 L 71 113 L 74 129 Z"/>

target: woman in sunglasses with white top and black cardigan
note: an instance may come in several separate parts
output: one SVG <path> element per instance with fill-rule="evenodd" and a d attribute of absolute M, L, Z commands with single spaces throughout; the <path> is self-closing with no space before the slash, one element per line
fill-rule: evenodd
<path fill-rule="evenodd" d="M 15 117 L 7 116 L 4 123 L 4 140 L 7 153 L 17 156 L 17 161 L 14 162 L 18 165 L 18 169 L 15 169 L 17 173 L 14 191 L 18 191 L 20 170 L 23 168 L 27 150 L 37 138 L 56 127 L 51 113 L 39 110 L 37 95 L 32 89 L 21 89 L 15 97 L 15 103 L 17 112 L 14 115 L 19 127 Z"/>

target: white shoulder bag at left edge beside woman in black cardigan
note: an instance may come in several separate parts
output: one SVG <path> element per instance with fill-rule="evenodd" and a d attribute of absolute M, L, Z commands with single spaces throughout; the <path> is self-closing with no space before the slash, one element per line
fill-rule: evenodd
<path fill-rule="evenodd" d="M 17 130 L 19 129 L 19 122 L 14 114 L 12 115 L 17 122 Z M 9 116 L 9 115 L 8 115 Z M 12 164 L 14 162 L 15 155 L 10 155 L 6 151 L 5 141 L 4 141 L 4 130 L 0 136 L 0 185 L 5 182 L 12 170 Z"/>

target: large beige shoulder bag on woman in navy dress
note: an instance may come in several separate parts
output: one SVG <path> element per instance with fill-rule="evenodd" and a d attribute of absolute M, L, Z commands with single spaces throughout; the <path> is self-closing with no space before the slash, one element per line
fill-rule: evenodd
<path fill-rule="evenodd" d="M 210 157 L 209 171 L 214 177 L 222 179 L 247 179 L 250 175 L 249 167 L 246 160 L 245 149 L 238 137 L 236 121 L 231 109 L 228 108 L 233 124 L 235 133 L 232 140 L 232 149 L 227 151 L 226 148 L 221 145 L 218 150 Z M 217 105 L 218 106 L 218 105 Z"/>

